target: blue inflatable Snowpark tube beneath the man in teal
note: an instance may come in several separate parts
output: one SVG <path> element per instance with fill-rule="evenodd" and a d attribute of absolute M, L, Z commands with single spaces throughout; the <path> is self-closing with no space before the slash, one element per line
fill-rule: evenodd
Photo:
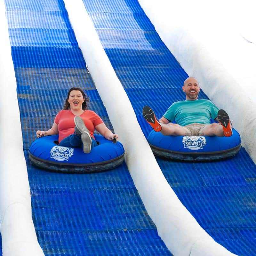
<path fill-rule="evenodd" d="M 165 136 L 151 131 L 148 143 L 155 156 L 181 161 L 214 161 L 235 156 L 241 147 L 239 133 L 230 137 Z"/>

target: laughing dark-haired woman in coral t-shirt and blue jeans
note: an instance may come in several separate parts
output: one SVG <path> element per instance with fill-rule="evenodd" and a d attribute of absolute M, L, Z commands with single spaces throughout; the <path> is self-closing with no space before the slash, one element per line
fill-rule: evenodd
<path fill-rule="evenodd" d="M 48 131 L 36 131 L 36 137 L 59 134 L 59 145 L 63 147 L 80 147 L 83 145 L 84 153 L 98 146 L 94 138 L 96 129 L 108 140 L 118 139 L 103 123 L 100 116 L 87 109 L 89 98 L 79 87 L 72 87 L 68 91 L 63 110 L 55 117 L 52 128 Z"/>

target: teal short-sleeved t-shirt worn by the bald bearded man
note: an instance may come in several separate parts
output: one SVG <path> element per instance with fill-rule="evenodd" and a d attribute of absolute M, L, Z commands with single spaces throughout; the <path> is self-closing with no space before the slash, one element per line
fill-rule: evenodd
<path fill-rule="evenodd" d="M 218 116 L 219 109 L 211 100 L 183 100 L 172 103 L 164 113 L 164 117 L 176 124 L 210 124 L 211 118 Z"/>

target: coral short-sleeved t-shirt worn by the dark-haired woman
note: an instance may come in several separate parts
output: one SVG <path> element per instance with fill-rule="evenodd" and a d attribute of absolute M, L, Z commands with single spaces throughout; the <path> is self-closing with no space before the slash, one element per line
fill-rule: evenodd
<path fill-rule="evenodd" d="M 56 115 L 54 122 L 58 125 L 59 142 L 75 132 L 74 117 L 75 115 L 70 109 L 60 110 Z M 98 116 L 94 111 L 87 109 L 84 110 L 80 117 L 84 120 L 85 126 L 90 131 L 90 136 L 95 139 L 93 135 L 95 126 L 103 123 L 100 116 Z"/>

